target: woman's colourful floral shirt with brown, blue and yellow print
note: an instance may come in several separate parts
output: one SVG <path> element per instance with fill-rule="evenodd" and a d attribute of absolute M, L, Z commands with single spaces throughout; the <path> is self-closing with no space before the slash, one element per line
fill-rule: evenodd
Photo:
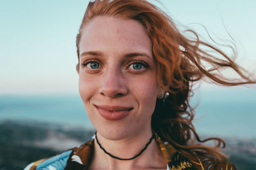
<path fill-rule="evenodd" d="M 236 170 L 227 160 L 216 160 L 202 157 L 195 152 L 193 159 L 173 148 L 170 143 L 163 141 L 157 134 L 155 138 L 167 162 L 167 170 Z M 24 170 L 86 170 L 89 167 L 94 148 L 94 137 L 83 145 L 61 152 L 53 157 L 38 160 L 29 164 Z"/>

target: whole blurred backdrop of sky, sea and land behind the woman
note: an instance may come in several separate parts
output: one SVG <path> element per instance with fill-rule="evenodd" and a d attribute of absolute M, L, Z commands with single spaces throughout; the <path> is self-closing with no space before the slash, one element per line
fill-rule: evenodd
<path fill-rule="evenodd" d="M 255 1 L 150 2 L 166 11 L 180 30 L 194 29 L 210 41 L 205 27 L 214 40 L 235 43 L 237 62 L 255 73 Z M 76 34 L 87 4 L 0 1 L 0 170 L 22 169 L 92 136 L 76 73 Z M 237 169 L 256 169 L 255 85 L 202 82 L 191 103 L 197 106 L 195 127 L 202 138 L 225 139 L 225 152 Z"/>

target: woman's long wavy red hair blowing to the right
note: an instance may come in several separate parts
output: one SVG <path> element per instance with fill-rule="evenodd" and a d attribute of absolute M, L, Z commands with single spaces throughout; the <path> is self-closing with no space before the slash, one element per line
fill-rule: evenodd
<path fill-rule="evenodd" d="M 227 86 L 255 83 L 255 81 L 251 80 L 246 71 L 219 48 L 201 41 L 196 32 L 186 31 L 193 35 L 191 38 L 182 34 L 166 13 L 145 0 L 90 2 L 77 34 L 78 57 L 79 42 L 85 25 L 94 17 L 103 15 L 140 22 L 152 41 L 152 53 L 157 65 L 159 85 L 164 91 L 170 93 L 165 102 L 157 99 L 156 109 L 152 115 L 152 130 L 187 155 L 192 156 L 192 152 L 197 152 L 216 159 L 227 159 L 219 151 L 221 145 L 225 147 L 222 139 L 201 140 L 195 131 L 192 124 L 194 111 L 189 105 L 189 97 L 193 94 L 193 83 L 204 77 Z M 218 71 L 223 68 L 231 68 L 240 76 L 240 79 L 228 79 L 218 74 Z M 209 140 L 218 141 L 218 144 L 216 146 L 201 144 Z"/>

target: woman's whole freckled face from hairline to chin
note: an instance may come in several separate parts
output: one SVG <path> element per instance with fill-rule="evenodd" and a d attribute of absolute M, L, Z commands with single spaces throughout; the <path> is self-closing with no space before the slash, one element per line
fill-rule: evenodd
<path fill-rule="evenodd" d="M 143 25 L 95 17 L 83 29 L 79 50 L 79 92 L 95 129 L 115 140 L 150 132 L 159 85 Z"/>

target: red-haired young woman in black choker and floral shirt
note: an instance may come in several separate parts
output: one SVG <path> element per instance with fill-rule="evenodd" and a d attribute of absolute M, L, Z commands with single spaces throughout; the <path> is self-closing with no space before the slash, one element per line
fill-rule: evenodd
<path fill-rule="evenodd" d="M 26 169 L 236 169 L 218 150 L 223 140 L 202 141 L 196 134 L 189 96 L 204 76 L 230 86 L 255 81 L 190 32 L 195 39 L 144 0 L 89 3 L 77 34 L 77 73 L 97 132 L 84 145 Z M 241 81 L 217 74 L 225 67 Z M 218 145 L 202 145 L 211 139 Z"/>

